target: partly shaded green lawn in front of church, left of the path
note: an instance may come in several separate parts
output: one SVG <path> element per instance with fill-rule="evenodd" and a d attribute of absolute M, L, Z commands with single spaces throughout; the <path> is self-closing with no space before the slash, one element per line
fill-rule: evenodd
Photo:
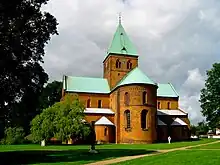
<path fill-rule="evenodd" d="M 89 154 L 86 145 L 0 145 L 0 160 L 4 164 L 86 164 L 90 162 L 113 159 L 117 157 L 140 155 L 156 152 L 158 149 L 170 149 L 191 146 L 214 141 L 204 139 L 192 142 L 176 142 L 172 144 L 109 144 L 97 145 L 99 154 Z"/>

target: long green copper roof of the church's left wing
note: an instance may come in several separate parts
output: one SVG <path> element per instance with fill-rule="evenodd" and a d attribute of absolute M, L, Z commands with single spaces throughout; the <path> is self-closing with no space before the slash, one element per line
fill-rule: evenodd
<path fill-rule="evenodd" d="M 110 93 L 108 81 L 103 78 L 66 76 L 63 83 L 68 92 Z"/>

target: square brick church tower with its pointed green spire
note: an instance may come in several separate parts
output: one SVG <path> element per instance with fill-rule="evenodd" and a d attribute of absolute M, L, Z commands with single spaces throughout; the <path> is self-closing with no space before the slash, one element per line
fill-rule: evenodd
<path fill-rule="evenodd" d="M 119 16 L 119 24 L 103 61 L 103 77 L 108 80 L 110 89 L 132 69 L 138 66 L 138 53 L 126 34 Z"/>

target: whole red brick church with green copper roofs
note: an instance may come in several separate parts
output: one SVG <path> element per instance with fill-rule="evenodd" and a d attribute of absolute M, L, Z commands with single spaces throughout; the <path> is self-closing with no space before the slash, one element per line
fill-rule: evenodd
<path fill-rule="evenodd" d="M 78 94 L 96 141 L 153 143 L 187 140 L 188 114 L 171 83 L 160 84 L 138 67 L 138 53 L 121 21 L 103 60 L 103 78 L 63 76 L 63 95 Z"/>

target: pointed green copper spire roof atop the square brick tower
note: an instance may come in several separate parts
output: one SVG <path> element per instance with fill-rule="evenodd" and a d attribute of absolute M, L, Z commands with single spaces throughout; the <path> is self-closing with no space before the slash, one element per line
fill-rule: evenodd
<path fill-rule="evenodd" d="M 112 43 L 108 48 L 107 55 L 109 55 L 110 53 L 138 56 L 135 46 L 130 41 L 120 22 L 114 34 Z"/>

